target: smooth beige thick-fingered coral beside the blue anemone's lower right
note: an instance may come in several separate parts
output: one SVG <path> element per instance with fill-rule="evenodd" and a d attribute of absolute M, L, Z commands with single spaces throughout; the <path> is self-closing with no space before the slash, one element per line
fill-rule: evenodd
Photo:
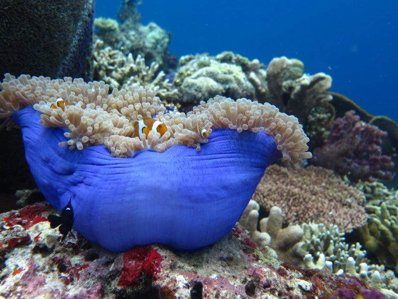
<path fill-rule="evenodd" d="M 303 229 L 300 225 L 282 228 L 283 214 L 278 206 L 273 206 L 269 216 L 259 221 L 260 206 L 250 200 L 239 219 L 239 224 L 248 231 L 250 238 L 265 249 L 268 255 L 284 262 L 300 265 L 306 252 L 302 250 Z M 260 231 L 257 230 L 259 225 Z"/>

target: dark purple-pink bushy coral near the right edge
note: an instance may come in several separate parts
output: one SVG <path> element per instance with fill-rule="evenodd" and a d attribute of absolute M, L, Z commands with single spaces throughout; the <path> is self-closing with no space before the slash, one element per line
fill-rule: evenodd
<path fill-rule="evenodd" d="M 346 174 L 351 180 L 392 179 L 394 163 L 382 155 L 387 135 L 377 126 L 360 121 L 354 110 L 332 125 L 326 144 L 314 150 L 313 163 Z"/>

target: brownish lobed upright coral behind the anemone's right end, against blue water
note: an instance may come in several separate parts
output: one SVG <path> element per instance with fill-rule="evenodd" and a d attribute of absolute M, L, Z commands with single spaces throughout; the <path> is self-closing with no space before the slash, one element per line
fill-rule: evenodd
<path fill-rule="evenodd" d="M 304 74 L 304 64 L 297 59 L 273 58 L 268 64 L 265 80 L 265 101 L 286 113 L 294 113 L 303 123 L 315 106 L 332 99 L 327 93 L 332 78 L 324 73 Z"/>

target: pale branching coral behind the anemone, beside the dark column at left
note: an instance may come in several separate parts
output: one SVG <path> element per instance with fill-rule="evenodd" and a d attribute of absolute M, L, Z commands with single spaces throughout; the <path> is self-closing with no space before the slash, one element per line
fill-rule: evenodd
<path fill-rule="evenodd" d="M 178 90 L 165 78 L 163 71 L 159 72 L 159 65 L 152 62 L 145 64 L 140 55 L 133 58 L 119 50 L 105 47 L 104 41 L 97 39 L 93 52 L 94 79 L 103 80 L 111 88 L 148 87 L 155 90 L 162 99 L 176 99 Z"/>

